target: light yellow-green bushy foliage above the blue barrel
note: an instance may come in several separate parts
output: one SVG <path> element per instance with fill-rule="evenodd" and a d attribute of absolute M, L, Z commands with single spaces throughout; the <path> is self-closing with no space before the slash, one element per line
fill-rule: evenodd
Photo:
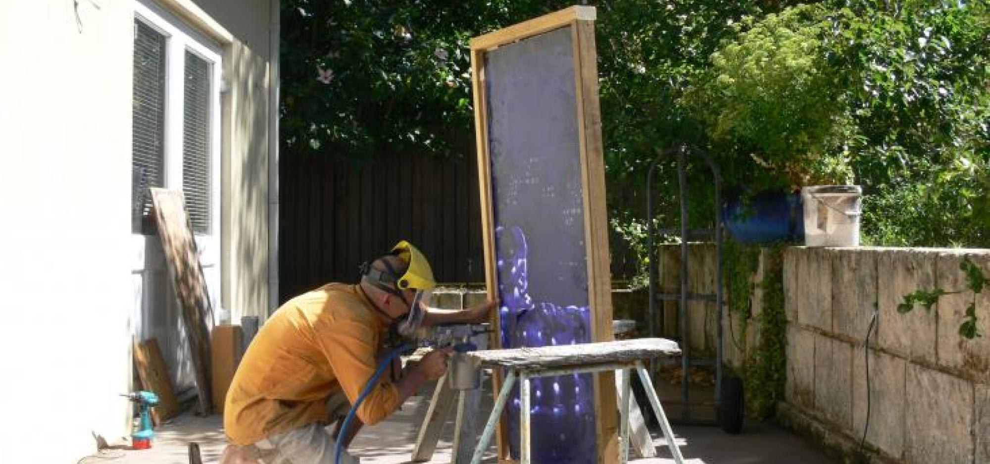
<path fill-rule="evenodd" d="M 800 185 L 849 176 L 837 150 L 848 123 L 823 44 L 826 11 L 799 5 L 743 18 L 681 101 L 704 120 L 730 181 Z"/>

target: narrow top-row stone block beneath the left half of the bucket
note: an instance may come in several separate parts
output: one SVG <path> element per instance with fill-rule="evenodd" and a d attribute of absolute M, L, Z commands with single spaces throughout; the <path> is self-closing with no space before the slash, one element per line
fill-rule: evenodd
<path fill-rule="evenodd" d="M 798 265 L 798 321 L 832 331 L 832 250 L 806 248 Z"/>

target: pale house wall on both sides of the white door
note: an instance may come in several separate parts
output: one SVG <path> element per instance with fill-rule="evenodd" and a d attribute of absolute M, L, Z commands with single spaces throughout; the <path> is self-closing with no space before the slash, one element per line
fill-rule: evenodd
<path fill-rule="evenodd" d="M 270 4 L 178 3 L 233 39 L 220 299 L 263 316 Z M 0 5 L 0 462 L 76 462 L 130 431 L 133 41 L 131 0 Z"/>

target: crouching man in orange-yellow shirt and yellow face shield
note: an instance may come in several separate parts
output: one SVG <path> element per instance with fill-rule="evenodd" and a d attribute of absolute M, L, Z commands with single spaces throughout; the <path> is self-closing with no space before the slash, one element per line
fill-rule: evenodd
<path fill-rule="evenodd" d="M 342 420 L 374 374 L 386 329 L 487 321 L 494 301 L 464 311 L 425 307 L 435 286 L 426 258 L 408 242 L 366 266 L 358 285 L 329 284 L 290 299 L 255 335 L 227 394 L 224 427 L 233 446 L 221 462 L 334 463 L 361 423 L 373 424 L 446 372 L 450 349 L 428 353 L 398 379 L 382 376 L 357 407 L 347 437 L 324 426 Z M 409 318 L 417 320 L 409 320 Z M 346 452 L 343 463 L 358 462 Z"/>

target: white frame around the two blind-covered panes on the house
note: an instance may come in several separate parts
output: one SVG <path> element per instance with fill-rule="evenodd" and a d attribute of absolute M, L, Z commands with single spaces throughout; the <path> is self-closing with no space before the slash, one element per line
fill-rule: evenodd
<path fill-rule="evenodd" d="M 134 1 L 134 20 L 165 36 L 165 98 L 163 128 L 162 184 L 166 188 L 182 189 L 182 124 L 184 107 L 185 52 L 188 50 L 211 63 L 210 82 L 210 226 L 206 234 L 196 234 L 200 262 L 209 284 L 210 299 L 215 316 L 222 310 L 221 280 L 221 158 L 223 112 L 221 87 L 223 82 L 223 52 L 215 41 L 191 28 L 186 22 L 152 0 Z M 146 272 L 148 237 L 132 234 L 135 261 L 133 274 Z M 155 258 L 156 260 L 157 258 Z"/>

